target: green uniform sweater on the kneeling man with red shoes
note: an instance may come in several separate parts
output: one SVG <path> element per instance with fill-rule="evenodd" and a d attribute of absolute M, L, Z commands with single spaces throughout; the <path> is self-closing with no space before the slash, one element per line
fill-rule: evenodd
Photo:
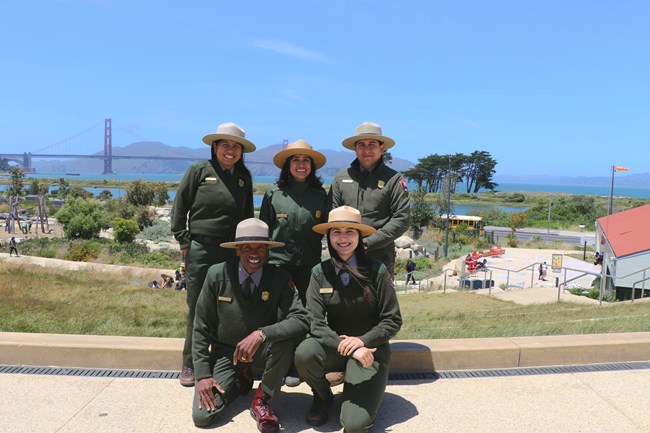
<path fill-rule="evenodd" d="M 245 299 L 237 266 L 239 257 L 210 267 L 196 303 L 192 359 L 196 379 L 212 376 L 210 353 L 219 347 L 234 350 L 251 332 L 262 328 L 268 342 L 304 336 L 307 311 L 289 285 L 289 274 L 266 264 L 260 284 Z"/>

